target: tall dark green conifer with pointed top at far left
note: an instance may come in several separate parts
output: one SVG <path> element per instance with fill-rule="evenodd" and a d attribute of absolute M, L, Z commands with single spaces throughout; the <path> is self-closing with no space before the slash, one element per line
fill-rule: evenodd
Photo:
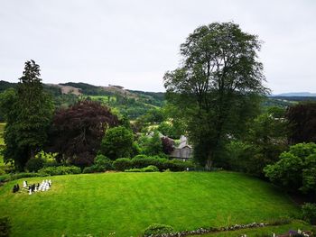
<path fill-rule="evenodd" d="M 0 98 L 6 121 L 4 157 L 14 160 L 17 169 L 23 169 L 47 141 L 53 105 L 40 76 L 40 66 L 26 61 L 16 89 L 5 91 Z"/>

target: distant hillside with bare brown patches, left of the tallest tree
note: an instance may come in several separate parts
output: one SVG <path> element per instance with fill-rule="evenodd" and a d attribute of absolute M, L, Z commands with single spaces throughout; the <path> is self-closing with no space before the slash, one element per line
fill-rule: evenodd
<path fill-rule="evenodd" d="M 17 83 L 0 81 L 0 93 L 16 86 Z M 43 84 L 43 88 L 52 96 L 56 107 L 73 105 L 79 98 L 86 97 L 116 109 L 120 114 L 127 115 L 131 120 L 146 114 L 149 110 L 158 109 L 164 104 L 163 92 L 127 90 L 116 85 L 98 87 L 83 82 L 67 82 Z"/>

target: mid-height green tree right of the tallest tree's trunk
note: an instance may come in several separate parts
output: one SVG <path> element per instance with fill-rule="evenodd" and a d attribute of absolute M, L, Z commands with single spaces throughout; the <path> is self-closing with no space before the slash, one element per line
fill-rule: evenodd
<path fill-rule="evenodd" d="M 280 154 L 287 149 L 286 135 L 283 110 L 269 108 L 249 125 L 244 141 L 228 143 L 228 168 L 263 178 L 265 166 L 279 160 Z"/>

